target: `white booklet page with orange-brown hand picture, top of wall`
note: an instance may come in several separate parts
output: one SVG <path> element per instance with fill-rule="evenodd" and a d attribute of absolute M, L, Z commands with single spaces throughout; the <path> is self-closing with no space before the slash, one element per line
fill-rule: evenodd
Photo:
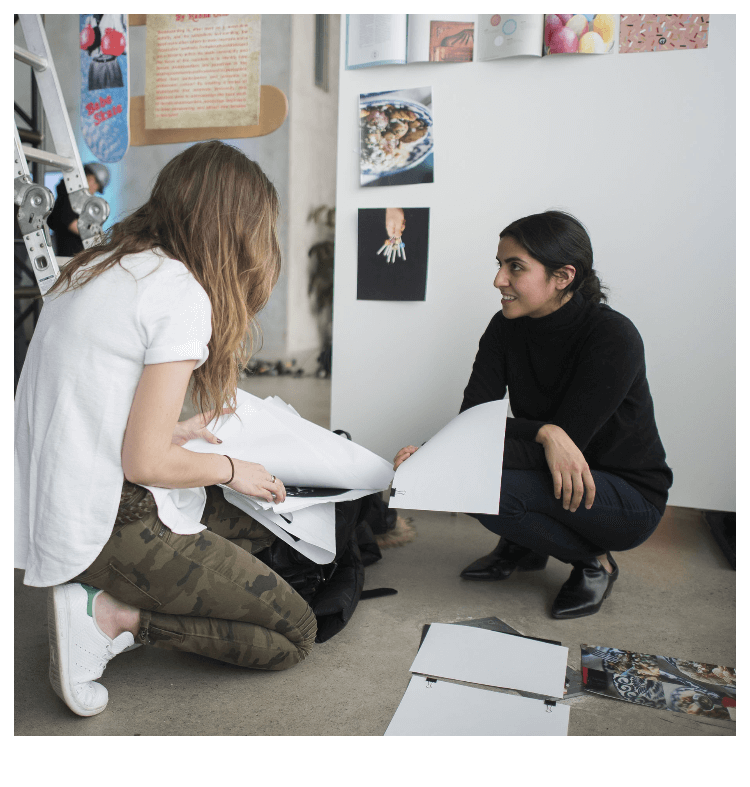
<path fill-rule="evenodd" d="M 409 63 L 470 63 L 476 14 L 409 14 Z"/>

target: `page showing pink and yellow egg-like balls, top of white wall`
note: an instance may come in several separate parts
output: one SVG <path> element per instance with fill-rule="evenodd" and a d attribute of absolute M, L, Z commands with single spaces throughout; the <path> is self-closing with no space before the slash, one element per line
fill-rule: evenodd
<path fill-rule="evenodd" d="M 607 55 L 618 36 L 618 14 L 547 14 L 544 54 Z"/>

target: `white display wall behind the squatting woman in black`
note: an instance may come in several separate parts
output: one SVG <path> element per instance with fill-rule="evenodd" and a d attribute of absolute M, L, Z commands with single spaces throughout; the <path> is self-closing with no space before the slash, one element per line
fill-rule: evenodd
<path fill-rule="evenodd" d="M 500 230 L 563 209 L 646 346 L 669 503 L 734 511 L 735 16 L 708 49 L 346 71 L 331 426 L 383 457 L 457 414 Z M 359 188 L 358 95 L 433 87 L 435 183 Z M 424 303 L 357 301 L 357 208 L 429 207 Z"/>

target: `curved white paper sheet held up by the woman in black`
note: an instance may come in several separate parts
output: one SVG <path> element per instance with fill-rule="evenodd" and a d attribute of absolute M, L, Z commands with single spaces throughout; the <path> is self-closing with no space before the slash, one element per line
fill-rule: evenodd
<path fill-rule="evenodd" d="M 497 514 L 507 415 L 506 399 L 457 415 L 399 465 L 391 508 Z"/>

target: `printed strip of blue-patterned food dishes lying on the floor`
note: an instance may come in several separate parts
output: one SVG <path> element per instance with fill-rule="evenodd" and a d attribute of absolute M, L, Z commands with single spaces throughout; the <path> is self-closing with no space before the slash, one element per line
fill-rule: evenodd
<path fill-rule="evenodd" d="M 649 708 L 735 721 L 733 667 L 581 645 L 587 691 Z"/>

